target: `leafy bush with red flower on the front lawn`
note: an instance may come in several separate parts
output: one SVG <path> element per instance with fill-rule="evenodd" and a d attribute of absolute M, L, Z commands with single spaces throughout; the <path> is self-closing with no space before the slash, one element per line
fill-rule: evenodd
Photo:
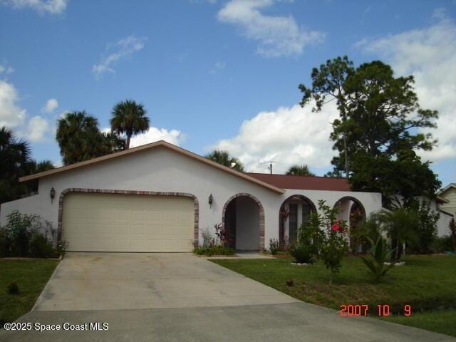
<path fill-rule="evenodd" d="M 345 221 L 337 219 L 338 209 L 329 207 L 323 200 L 318 201 L 318 211 L 310 215 L 309 223 L 301 226 L 299 240 L 309 247 L 333 274 L 341 269 L 342 257 L 348 252 L 348 229 Z"/>

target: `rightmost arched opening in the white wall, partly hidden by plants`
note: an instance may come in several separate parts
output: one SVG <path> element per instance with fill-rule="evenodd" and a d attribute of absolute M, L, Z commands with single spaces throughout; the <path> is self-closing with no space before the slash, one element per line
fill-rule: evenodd
<path fill-rule="evenodd" d="M 357 234 L 366 222 L 366 209 L 361 202 L 351 196 L 338 199 L 334 207 L 338 209 L 338 218 L 347 222 L 350 232 L 350 248 L 353 253 L 367 252 L 368 244 Z"/>

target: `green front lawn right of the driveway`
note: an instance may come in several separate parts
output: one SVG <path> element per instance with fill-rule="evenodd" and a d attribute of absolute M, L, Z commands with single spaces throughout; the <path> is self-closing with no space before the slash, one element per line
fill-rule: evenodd
<path fill-rule="evenodd" d="M 438 321 L 439 314 L 421 316 L 418 311 L 456 309 L 456 257 L 420 255 L 403 259 L 406 266 L 394 267 L 380 283 L 375 283 L 359 257 L 346 257 L 333 285 L 329 285 L 329 271 L 321 261 L 311 266 L 291 265 L 290 258 L 212 261 L 301 301 L 331 309 L 339 310 L 341 305 L 348 304 L 367 304 L 370 316 L 377 316 L 377 305 L 389 304 L 391 314 L 402 315 L 408 304 L 412 308 L 411 316 L 390 319 L 428 328 L 431 323 L 425 322 Z M 288 279 L 294 280 L 293 286 L 286 284 Z M 445 318 L 452 321 L 447 321 L 447 324 L 455 326 L 455 311 L 448 312 Z"/>

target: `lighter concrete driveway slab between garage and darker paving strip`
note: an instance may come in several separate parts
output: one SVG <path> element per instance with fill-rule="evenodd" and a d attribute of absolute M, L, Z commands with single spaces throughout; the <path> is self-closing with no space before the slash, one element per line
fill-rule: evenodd
<path fill-rule="evenodd" d="M 296 301 L 192 254 L 68 253 L 34 309 L 165 309 Z"/>

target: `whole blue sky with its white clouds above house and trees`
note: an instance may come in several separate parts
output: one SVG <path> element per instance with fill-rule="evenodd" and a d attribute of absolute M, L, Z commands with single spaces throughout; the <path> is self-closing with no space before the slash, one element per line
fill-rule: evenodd
<path fill-rule="evenodd" d="M 150 132 L 204 154 L 229 150 L 247 170 L 331 169 L 336 110 L 299 108 L 311 68 L 347 54 L 413 74 L 420 103 L 440 111 L 432 160 L 456 182 L 456 1 L 0 0 L 0 124 L 60 162 L 66 110 L 108 128 L 125 98 L 145 105 Z"/>

